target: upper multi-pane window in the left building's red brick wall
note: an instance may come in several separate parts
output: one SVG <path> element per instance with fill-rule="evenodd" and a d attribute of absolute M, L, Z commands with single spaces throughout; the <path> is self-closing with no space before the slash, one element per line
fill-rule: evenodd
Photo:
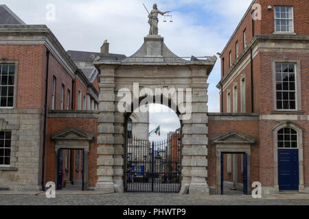
<path fill-rule="evenodd" d="M 13 107 L 15 66 L 0 65 L 0 107 Z"/>

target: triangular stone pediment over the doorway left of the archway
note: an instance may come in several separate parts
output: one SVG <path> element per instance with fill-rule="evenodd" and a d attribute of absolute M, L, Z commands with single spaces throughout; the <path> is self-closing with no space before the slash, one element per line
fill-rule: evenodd
<path fill-rule="evenodd" d="M 52 140 L 93 140 L 93 135 L 71 127 L 56 133 Z"/>

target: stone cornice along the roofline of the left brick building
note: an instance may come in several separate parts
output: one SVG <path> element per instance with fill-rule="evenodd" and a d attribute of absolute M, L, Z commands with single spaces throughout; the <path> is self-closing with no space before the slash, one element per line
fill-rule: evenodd
<path fill-rule="evenodd" d="M 0 25 L 0 44 L 45 45 L 71 78 L 75 79 L 78 67 L 46 25 Z"/>

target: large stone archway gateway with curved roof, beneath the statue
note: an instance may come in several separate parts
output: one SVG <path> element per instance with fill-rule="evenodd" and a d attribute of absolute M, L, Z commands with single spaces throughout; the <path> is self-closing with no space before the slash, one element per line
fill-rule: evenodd
<path fill-rule="evenodd" d="M 119 91 L 126 90 L 127 94 L 140 103 L 141 99 L 148 96 L 141 92 L 143 88 L 151 90 L 154 99 L 161 96 L 155 91 L 158 88 L 181 88 L 185 89 L 185 94 L 192 94 L 192 99 L 186 97 L 181 103 L 184 106 L 192 102 L 192 114 L 188 118 L 182 114 L 179 116 L 182 123 L 181 185 L 189 185 L 190 194 L 209 194 L 207 77 L 214 68 L 216 59 L 213 56 L 207 60 L 183 60 L 165 46 L 163 37 L 147 36 L 142 47 L 125 60 L 103 59 L 94 62 L 100 73 L 98 182 L 95 190 L 124 191 L 125 115 L 138 105 L 126 105 L 126 112 L 119 110 L 119 105 L 123 102 Z"/>

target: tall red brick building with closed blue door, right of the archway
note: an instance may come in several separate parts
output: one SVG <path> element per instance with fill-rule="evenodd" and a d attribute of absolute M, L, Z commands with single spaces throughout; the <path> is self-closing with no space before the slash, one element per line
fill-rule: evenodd
<path fill-rule="evenodd" d="M 308 9 L 308 1 L 253 1 L 220 55 L 218 120 L 238 115 L 222 132 L 255 138 L 251 182 L 260 181 L 264 193 L 308 192 Z M 248 114 L 254 122 L 241 118 Z M 220 123 L 211 118 L 209 138 L 218 133 L 211 123 Z"/>

